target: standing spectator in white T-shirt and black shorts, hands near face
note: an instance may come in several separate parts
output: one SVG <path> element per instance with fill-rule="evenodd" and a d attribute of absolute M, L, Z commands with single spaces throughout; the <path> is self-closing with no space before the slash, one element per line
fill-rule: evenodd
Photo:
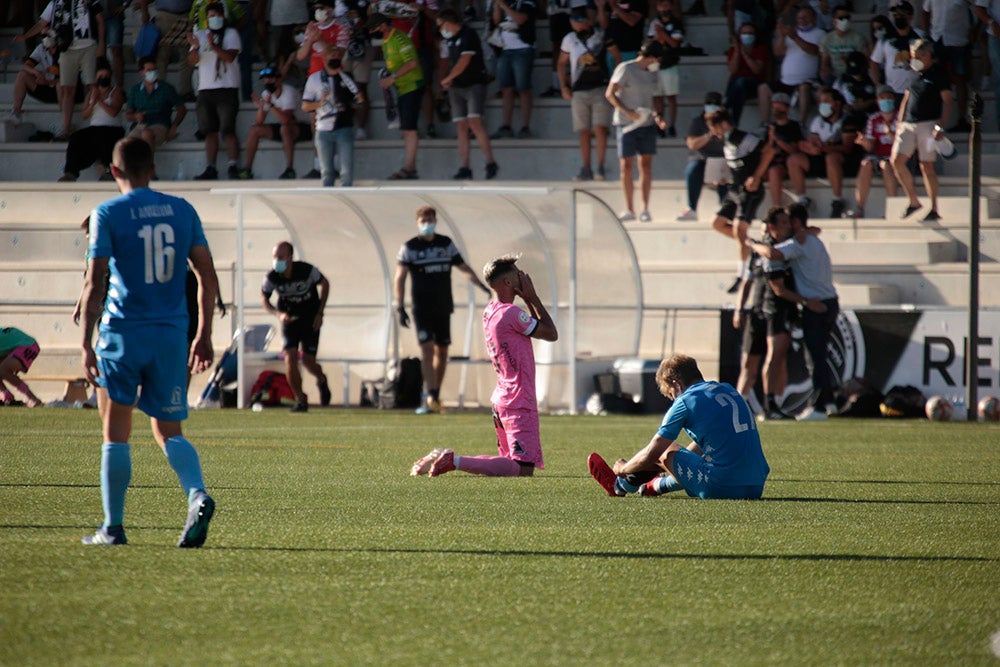
<path fill-rule="evenodd" d="M 194 9 L 192 9 L 194 11 Z M 198 129 L 205 135 L 205 171 L 196 181 L 219 178 L 215 160 L 219 154 L 219 135 L 226 146 L 229 178 L 239 178 L 236 166 L 240 144 L 236 138 L 236 113 L 240 108 L 240 35 L 226 26 L 221 2 L 206 7 L 208 28 L 188 36 L 188 62 L 198 65 Z"/>

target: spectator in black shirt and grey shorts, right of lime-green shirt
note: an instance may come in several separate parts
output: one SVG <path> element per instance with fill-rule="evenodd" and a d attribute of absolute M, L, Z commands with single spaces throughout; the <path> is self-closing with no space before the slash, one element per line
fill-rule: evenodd
<path fill-rule="evenodd" d="M 490 135 L 483 125 L 486 112 L 486 84 L 489 75 L 483 60 L 483 43 L 475 29 L 465 25 L 454 9 L 442 9 L 437 17 L 438 28 L 444 38 L 441 55 L 447 73 L 441 77 L 441 87 L 448 92 L 451 120 L 455 123 L 460 166 L 455 180 L 472 178 L 470 154 L 471 133 L 476 137 L 483 157 L 486 158 L 486 179 L 495 178 L 499 167 L 493 158 Z"/>

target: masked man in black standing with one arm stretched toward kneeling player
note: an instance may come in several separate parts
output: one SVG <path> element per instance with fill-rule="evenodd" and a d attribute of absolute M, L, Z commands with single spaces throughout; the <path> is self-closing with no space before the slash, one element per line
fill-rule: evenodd
<path fill-rule="evenodd" d="M 451 314 L 455 310 L 451 294 L 451 269 L 465 274 L 469 282 L 486 292 L 491 292 L 476 272 L 462 259 L 455 243 L 444 234 L 437 233 L 437 211 L 431 206 L 417 209 L 417 235 L 399 248 L 396 257 L 394 294 L 399 325 L 410 326 L 406 313 L 406 277 L 413 276 L 410 289 L 410 306 L 413 308 L 413 325 L 420 344 L 421 372 L 424 378 L 423 400 L 418 415 L 442 414 L 440 389 L 448 366 L 448 346 L 451 345 Z"/>

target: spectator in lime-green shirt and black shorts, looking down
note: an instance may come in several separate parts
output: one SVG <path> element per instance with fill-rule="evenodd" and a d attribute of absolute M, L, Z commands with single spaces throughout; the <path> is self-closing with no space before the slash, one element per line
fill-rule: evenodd
<path fill-rule="evenodd" d="M 403 133 L 406 155 L 403 168 L 389 176 L 390 180 L 410 180 L 417 176 L 417 119 L 424 96 L 424 73 L 417 49 L 402 30 L 392 26 L 388 16 L 372 14 L 368 26 L 373 37 L 382 40 L 382 54 L 387 72 L 381 79 L 382 88 L 396 87 L 399 94 L 399 128 Z"/>

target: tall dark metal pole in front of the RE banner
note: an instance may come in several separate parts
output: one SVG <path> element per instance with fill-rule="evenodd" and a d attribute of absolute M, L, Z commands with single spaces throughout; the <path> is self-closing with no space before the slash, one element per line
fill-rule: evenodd
<path fill-rule="evenodd" d="M 979 192 L 982 176 L 983 98 L 972 93 L 969 99 L 969 334 L 965 353 L 965 409 L 969 421 L 976 419 L 979 402 Z"/>

